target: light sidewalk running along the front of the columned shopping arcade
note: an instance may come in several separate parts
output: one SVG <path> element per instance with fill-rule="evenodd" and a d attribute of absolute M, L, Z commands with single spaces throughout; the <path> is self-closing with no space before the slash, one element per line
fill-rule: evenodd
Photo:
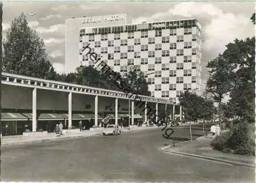
<path fill-rule="evenodd" d="M 121 132 L 130 132 L 133 130 L 146 130 L 146 129 L 154 129 L 157 126 L 140 126 L 132 129 L 121 128 Z M 96 132 L 90 130 L 82 130 L 80 133 L 69 133 L 64 134 L 63 136 L 57 136 L 55 133 L 49 133 L 45 136 L 29 136 L 23 137 L 22 135 L 16 136 L 3 136 L 2 146 L 6 145 L 22 145 L 22 144 L 30 144 L 30 143 L 38 143 L 38 142 L 47 142 L 47 141 L 56 141 L 56 140 L 63 140 L 63 139 L 70 139 L 70 138 L 81 138 L 81 137 L 90 137 L 94 135 L 102 134 L 102 130 L 97 130 Z"/>

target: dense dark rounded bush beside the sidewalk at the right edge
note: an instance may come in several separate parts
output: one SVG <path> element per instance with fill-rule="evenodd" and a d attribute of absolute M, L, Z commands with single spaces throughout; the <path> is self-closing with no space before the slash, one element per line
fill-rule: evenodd
<path fill-rule="evenodd" d="M 223 152 L 255 155 L 255 124 L 239 122 L 230 132 L 224 132 L 213 139 L 210 145 Z"/>

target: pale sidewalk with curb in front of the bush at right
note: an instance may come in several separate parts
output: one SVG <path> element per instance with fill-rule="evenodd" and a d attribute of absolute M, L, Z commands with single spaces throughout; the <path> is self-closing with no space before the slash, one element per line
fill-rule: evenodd
<path fill-rule="evenodd" d="M 181 142 L 175 146 L 163 147 L 161 150 L 173 154 L 185 155 L 215 162 L 222 162 L 231 165 L 253 168 L 255 167 L 255 156 L 224 153 L 218 150 L 214 150 L 209 145 L 211 140 L 212 139 L 200 137 L 192 143 Z"/>

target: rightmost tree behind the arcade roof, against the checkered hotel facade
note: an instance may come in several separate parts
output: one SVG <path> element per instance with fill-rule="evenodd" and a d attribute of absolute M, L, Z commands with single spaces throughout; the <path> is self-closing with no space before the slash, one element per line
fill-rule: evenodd
<path fill-rule="evenodd" d="M 134 66 L 128 68 L 124 74 L 127 85 L 129 85 L 133 93 L 138 95 L 150 96 L 151 92 L 148 91 L 148 83 L 143 72 L 138 71 Z"/>

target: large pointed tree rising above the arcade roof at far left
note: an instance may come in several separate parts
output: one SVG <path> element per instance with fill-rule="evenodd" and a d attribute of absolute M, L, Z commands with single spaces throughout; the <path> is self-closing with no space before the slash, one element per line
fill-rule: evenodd
<path fill-rule="evenodd" d="M 54 69 L 47 59 L 44 41 L 28 26 L 24 13 L 12 21 L 3 46 L 3 71 L 52 79 Z"/>

